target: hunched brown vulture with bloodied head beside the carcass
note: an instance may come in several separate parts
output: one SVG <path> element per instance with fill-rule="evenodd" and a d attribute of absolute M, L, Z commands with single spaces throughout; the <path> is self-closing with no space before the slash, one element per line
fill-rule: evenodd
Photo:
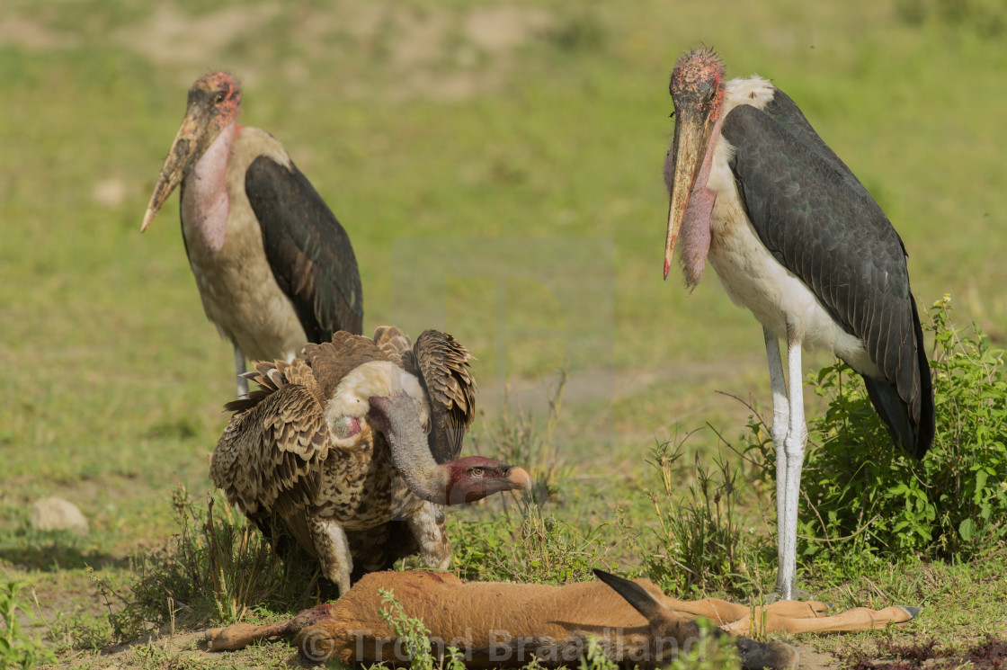
<path fill-rule="evenodd" d="M 254 364 L 247 377 L 261 388 L 225 406 L 235 414 L 209 475 L 264 535 L 292 536 L 340 593 L 404 555 L 446 568 L 442 506 L 529 488 L 521 467 L 459 457 L 476 384 L 452 336 L 424 330 L 413 345 L 392 326 L 374 339 L 339 331 L 303 354 Z"/>

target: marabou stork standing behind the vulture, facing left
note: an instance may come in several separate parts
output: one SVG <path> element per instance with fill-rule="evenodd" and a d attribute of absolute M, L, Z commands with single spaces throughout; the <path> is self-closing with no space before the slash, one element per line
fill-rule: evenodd
<path fill-rule="evenodd" d="M 246 396 L 246 356 L 290 361 L 336 330 L 359 334 L 364 309 L 349 237 L 283 146 L 238 125 L 241 103 L 227 73 L 192 85 L 142 230 L 181 184 L 185 252 Z"/>

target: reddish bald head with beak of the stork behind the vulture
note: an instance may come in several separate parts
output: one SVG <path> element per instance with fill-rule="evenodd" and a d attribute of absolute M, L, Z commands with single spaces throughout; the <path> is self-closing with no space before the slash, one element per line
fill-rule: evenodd
<path fill-rule="evenodd" d="M 141 231 L 150 222 L 168 195 L 189 173 L 221 132 L 238 119 L 242 107 L 242 90 L 227 73 L 210 73 L 200 77 L 189 89 L 185 118 L 164 159 L 161 174 L 150 196 Z"/>

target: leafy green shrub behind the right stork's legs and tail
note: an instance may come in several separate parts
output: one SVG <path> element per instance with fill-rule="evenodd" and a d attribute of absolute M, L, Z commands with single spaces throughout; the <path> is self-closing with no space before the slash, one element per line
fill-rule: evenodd
<path fill-rule="evenodd" d="M 805 555 L 968 559 L 1007 536 L 1004 352 L 977 325 L 969 337 L 959 331 L 951 312 L 945 296 L 925 326 L 934 337 L 937 437 L 921 461 L 892 444 L 859 375 L 837 363 L 813 378 L 828 409 L 808 425 L 798 534 L 814 539 Z M 758 420 L 751 429 L 750 448 L 771 481 L 768 431 Z"/>

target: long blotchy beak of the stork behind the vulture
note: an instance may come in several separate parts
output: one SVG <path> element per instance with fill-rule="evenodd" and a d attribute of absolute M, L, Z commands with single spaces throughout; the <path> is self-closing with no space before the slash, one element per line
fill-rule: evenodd
<path fill-rule="evenodd" d="M 178 134 L 175 135 L 175 141 L 171 143 L 168 157 L 164 159 L 161 174 L 157 177 L 157 184 L 150 196 L 150 204 L 147 205 L 147 212 L 143 215 L 141 233 L 147 230 L 164 202 L 221 134 L 217 119 L 215 110 L 208 101 L 196 99 L 189 102 L 185 118 L 178 129 Z"/>

